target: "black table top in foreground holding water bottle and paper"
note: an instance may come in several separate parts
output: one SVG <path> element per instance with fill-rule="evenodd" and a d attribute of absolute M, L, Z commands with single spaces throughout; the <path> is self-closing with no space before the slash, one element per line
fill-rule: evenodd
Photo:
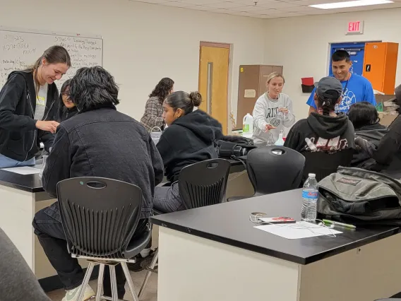
<path fill-rule="evenodd" d="M 337 237 L 319 236 L 299 240 L 283 237 L 253 228 L 250 213 L 262 212 L 268 217 L 288 216 L 301 220 L 301 189 L 232 201 L 214 206 L 152 217 L 162 227 L 186 232 L 234 247 L 285 259 L 297 264 L 310 264 L 335 254 L 355 249 L 376 240 L 395 235 L 400 228 L 336 228 Z"/>

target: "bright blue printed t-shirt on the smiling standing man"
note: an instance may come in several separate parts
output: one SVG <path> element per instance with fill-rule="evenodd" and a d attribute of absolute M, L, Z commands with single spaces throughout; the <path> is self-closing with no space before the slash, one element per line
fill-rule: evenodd
<path fill-rule="evenodd" d="M 373 94 L 373 88 L 371 83 L 357 74 L 352 74 L 347 81 L 342 81 L 342 100 L 339 105 L 336 105 L 335 112 L 347 113 L 349 107 L 354 105 L 356 102 L 367 101 L 376 107 L 376 98 Z M 315 95 L 316 88 L 313 88 L 312 94 L 309 100 L 306 102 L 307 105 L 314 107 L 316 109 L 315 100 L 313 96 Z"/>

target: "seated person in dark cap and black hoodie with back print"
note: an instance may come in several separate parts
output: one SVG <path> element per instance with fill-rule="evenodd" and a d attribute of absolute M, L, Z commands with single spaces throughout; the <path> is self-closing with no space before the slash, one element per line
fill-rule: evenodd
<path fill-rule="evenodd" d="M 284 146 L 299 153 L 336 153 L 355 148 L 354 126 L 343 113 L 335 113 L 335 105 L 341 102 L 342 85 L 337 78 L 322 78 L 313 96 L 318 112 L 294 124 Z"/>

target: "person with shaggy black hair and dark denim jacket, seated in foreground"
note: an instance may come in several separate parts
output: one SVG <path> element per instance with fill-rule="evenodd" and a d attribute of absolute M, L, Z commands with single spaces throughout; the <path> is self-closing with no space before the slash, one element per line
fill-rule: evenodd
<path fill-rule="evenodd" d="M 77 71 L 71 80 L 69 95 L 80 113 L 59 125 L 42 182 L 44 191 L 51 196 L 56 196 L 57 183 L 73 177 L 106 177 L 137 185 L 143 196 L 140 221 L 133 234 L 138 237 L 150 231 L 148 219 L 152 216 L 155 186 L 163 179 L 163 163 L 143 126 L 116 110 L 118 93 L 114 78 L 102 67 Z M 59 203 L 38 211 L 33 227 L 67 291 L 63 301 L 77 301 L 84 273 L 78 260 L 68 254 Z M 117 265 L 119 299 L 124 297 L 125 283 L 123 269 Z M 93 295 L 88 285 L 83 300 Z M 112 295 L 107 271 L 104 295 Z"/>

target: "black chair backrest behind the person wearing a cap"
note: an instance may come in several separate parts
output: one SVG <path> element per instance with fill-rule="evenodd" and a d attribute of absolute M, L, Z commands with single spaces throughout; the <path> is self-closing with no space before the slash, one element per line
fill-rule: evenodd
<path fill-rule="evenodd" d="M 304 155 L 306 159 L 302 183 L 308 179 L 310 173 L 315 174 L 319 182 L 333 172 L 337 172 L 339 166 L 349 167 L 354 155 L 354 150 L 348 148 L 331 154 L 323 152 L 304 152 L 302 155 Z"/>

